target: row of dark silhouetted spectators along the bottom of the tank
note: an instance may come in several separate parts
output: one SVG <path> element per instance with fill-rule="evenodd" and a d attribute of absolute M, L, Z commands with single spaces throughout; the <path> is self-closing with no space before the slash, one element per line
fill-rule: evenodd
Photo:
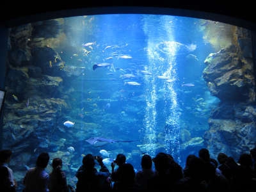
<path fill-rule="evenodd" d="M 0 191 L 15 192 L 17 182 L 8 167 L 11 150 L 0 151 Z M 68 191 L 255 191 L 256 189 L 256 148 L 241 154 L 236 162 L 233 157 L 220 152 L 217 159 L 210 156 L 207 148 L 201 148 L 198 156 L 189 154 L 182 168 L 170 154 L 159 152 L 152 158 L 141 157 L 141 169 L 134 171 L 126 162 L 124 154 L 118 154 L 109 171 L 101 156 L 87 154 L 76 172 L 76 188 L 67 184 L 60 158 L 52 159 L 52 171 L 45 168 L 49 154 L 42 152 L 36 159 L 36 166 L 29 168 L 22 180 L 24 192 L 68 192 Z M 154 169 L 153 169 L 154 163 Z M 97 170 L 96 164 L 100 168 Z"/>

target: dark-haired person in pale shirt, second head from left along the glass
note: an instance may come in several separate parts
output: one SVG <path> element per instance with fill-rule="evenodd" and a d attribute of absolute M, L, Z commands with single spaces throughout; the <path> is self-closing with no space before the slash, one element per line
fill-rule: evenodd
<path fill-rule="evenodd" d="M 29 168 L 23 179 L 25 192 L 48 192 L 49 173 L 45 171 L 49 163 L 49 154 L 42 152 L 36 159 L 36 166 Z"/>

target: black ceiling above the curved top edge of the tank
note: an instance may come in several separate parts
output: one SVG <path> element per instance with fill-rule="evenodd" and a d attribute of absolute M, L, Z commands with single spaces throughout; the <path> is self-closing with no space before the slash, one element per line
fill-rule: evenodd
<path fill-rule="evenodd" d="M 152 2 L 151 2 L 152 1 Z M 156 13 L 199 17 L 256 29 L 253 1 L 150 0 L 150 1 L 5 1 L 1 3 L 0 22 L 15 26 L 36 20 L 100 13 Z"/>

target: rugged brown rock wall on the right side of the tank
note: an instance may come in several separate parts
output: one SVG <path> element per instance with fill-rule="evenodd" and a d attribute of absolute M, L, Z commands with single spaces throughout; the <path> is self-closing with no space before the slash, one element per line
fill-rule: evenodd
<path fill-rule="evenodd" d="M 251 31 L 235 28 L 232 45 L 205 59 L 203 77 L 221 102 L 212 110 L 204 139 L 211 156 L 235 159 L 256 143 L 255 74 Z"/>

